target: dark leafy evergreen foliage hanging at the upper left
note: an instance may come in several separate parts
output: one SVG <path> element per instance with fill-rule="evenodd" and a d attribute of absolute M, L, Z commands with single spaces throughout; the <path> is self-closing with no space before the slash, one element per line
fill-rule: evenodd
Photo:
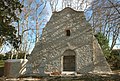
<path fill-rule="evenodd" d="M 0 1 L 0 47 L 7 41 L 14 48 L 18 48 L 20 36 L 16 36 L 17 30 L 10 24 L 19 20 L 16 12 L 20 13 L 22 7 L 23 5 L 20 4 L 19 0 Z"/>

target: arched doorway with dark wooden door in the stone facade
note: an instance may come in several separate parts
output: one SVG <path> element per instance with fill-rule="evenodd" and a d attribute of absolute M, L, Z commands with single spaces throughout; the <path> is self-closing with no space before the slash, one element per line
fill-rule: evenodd
<path fill-rule="evenodd" d="M 76 70 L 76 54 L 73 50 L 66 50 L 63 56 L 63 71 Z"/>

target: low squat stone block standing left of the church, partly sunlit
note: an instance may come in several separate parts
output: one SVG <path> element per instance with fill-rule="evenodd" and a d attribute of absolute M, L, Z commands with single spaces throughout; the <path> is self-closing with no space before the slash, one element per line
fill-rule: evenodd
<path fill-rule="evenodd" d="M 8 59 L 5 61 L 4 76 L 18 77 L 26 71 L 27 59 Z"/>

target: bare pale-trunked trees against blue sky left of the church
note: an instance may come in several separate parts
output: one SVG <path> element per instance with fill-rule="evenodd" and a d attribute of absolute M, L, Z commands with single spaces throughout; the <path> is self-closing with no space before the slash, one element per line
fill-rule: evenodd
<path fill-rule="evenodd" d="M 24 52 L 26 59 L 26 54 L 28 54 L 35 45 L 36 42 L 40 39 L 40 32 L 42 31 L 41 25 L 46 22 L 45 17 L 46 14 L 44 9 L 46 8 L 47 1 L 43 0 L 21 0 L 21 4 L 24 5 L 22 9 L 22 13 L 16 13 L 20 21 L 18 21 L 16 26 L 18 36 L 21 36 L 21 44 L 19 45 L 19 49 L 14 50 L 11 55 L 11 59 L 13 55 L 16 54 L 16 58 L 20 52 Z M 40 10 L 41 9 L 41 10 Z"/>

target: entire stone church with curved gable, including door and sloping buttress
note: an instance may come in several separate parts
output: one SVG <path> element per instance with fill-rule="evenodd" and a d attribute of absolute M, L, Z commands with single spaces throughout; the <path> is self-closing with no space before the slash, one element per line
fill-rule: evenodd
<path fill-rule="evenodd" d="M 69 7 L 53 12 L 28 64 L 29 73 L 40 75 L 111 72 L 84 12 Z"/>

